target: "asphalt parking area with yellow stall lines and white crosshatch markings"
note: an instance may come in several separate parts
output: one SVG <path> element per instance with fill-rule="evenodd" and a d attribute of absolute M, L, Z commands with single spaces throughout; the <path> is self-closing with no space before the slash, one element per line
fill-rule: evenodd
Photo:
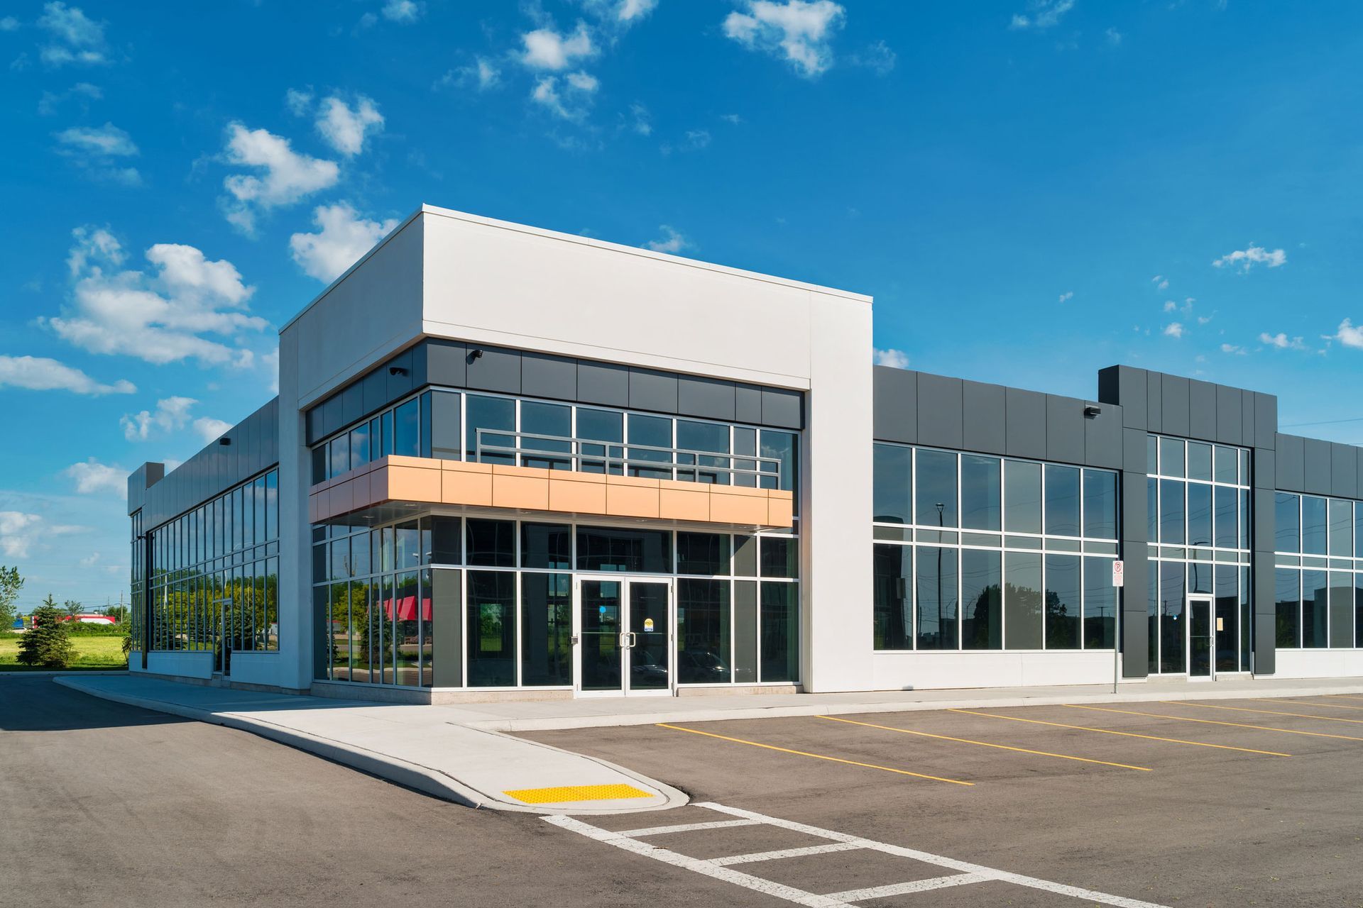
<path fill-rule="evenodd" d="M 766 820 L 724 825 L 741 817 L 695 805 L 647 814 L 649 822 L 598 817 L 590 825 L 607 833 L 698 829 L 627 840 L 572 829 L 597 837 L 605 851 L 650 854 L 630 844 L 642 841 L 699 862 L 778 852 L 724 866 L 848 903 L 859 896 L 874 905 L 1062 905 L 1104 904 L 1097 896 L 1109 896 L 1105 904 L 1363 905 L 1363 697 L 900 712 L 523 736 L 643 772 L 695 803 L 819 830 Z M 826 848 L 838 840 L 822 833 L 878 847 Z M 915 862 L 905 849 L 1047 885 L 988 874 L 957 879 L 969 869 L 943 871 L 950 864 Z M 706 871 L 680 859 L 673 866 Z M 923 879 L 932 882 L 915 883 Z M 792 900 L 789 892 L 784 897 Z"/>

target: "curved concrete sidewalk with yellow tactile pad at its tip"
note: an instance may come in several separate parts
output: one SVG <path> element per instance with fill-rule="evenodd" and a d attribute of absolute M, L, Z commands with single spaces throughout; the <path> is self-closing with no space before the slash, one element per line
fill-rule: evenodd
<path fill-rule="evenodd" d="M 596 814 L 687 802 L 680 791 L 604 760 L 455 723 L 442 707 L 255 693 L 129 674 L 53 681 L 249 731 L 470 807 Z"/>

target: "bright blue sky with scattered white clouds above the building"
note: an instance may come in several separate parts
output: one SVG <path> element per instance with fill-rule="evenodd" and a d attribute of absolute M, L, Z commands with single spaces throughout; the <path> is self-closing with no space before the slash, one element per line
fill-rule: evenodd
<path fill-rule="evenodd" d="M 125 472 L 269 399 L 423 201 L 872 294 L 883 362 L 1363 442 L 1359 60 L 1329 0 L 8 3 L 0 564 L 117 602 Z"/>

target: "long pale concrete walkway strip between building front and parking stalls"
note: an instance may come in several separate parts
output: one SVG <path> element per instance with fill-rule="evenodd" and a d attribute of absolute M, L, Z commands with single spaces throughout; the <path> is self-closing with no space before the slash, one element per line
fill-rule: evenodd
<path fill-rule="evenodd" d="M 747 709 L 695 709 L 611 716 L 559 716 L 548 719 L 487 719 L 461 723 L 469 728 L 515 734 L 521 731 L 566 731 L 572 728 L 615 728 L 620 726 L 654 726 L 667 723 L 726 721 L 737 719 L 785 719 L 800 716 L 838 716 L 874 712 L 920 712 L 934 709 L 999 709 L 1009 707 L 1062 707 L 1065 704 L 1159 702 L 1161 700 L 1244 700 L 1247 697 L 1325 697 L 1329 694 L 1363 694 L 1363 683 L 1349 686 L 1273 687 L 1266 690 L 1216 690 L 1208 685 L 1198 690 L 1149 690 L 1115 694 L 1073 694 L 1069 697 L 992 697 L 961 700 L 915 700 L 912 702 L 838 702 L 825 705 L 751 707 Z"/>

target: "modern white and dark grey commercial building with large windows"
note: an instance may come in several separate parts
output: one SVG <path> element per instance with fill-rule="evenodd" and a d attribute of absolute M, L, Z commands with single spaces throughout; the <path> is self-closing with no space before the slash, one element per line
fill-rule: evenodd
<path fill-rule="evenodd" d="M 1356 448 L 1178 376 L 870 355 L 868 297 L 423 207 L 282 328 L 275 400 L 129 476 L 132 667 L 410 701 L 1363 675 Z"/>

